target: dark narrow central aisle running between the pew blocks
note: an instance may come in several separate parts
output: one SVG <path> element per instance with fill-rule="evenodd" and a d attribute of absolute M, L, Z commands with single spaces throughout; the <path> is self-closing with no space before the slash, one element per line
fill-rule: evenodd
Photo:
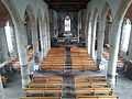
<path fill-rule="evenodd" d="M 69 46 L 66 47 L 66 63 L 63 78 L 64 78 L 63 99 L 76 99 L 74 75 L 72 74 L 72 59 Z"/>

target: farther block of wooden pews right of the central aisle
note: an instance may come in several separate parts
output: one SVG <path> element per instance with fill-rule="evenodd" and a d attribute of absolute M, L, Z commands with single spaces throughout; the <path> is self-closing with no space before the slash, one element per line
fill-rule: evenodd
<path fill-rule="evenodd" d="M 70 53 L 73 69 L 98 70 L 96 62 L 88 55 L 85 48 L 72 48 Z"/>

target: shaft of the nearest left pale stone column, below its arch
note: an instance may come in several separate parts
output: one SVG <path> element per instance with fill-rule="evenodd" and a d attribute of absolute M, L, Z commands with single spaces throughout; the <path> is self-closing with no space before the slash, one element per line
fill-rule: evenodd
<path fill-rule="evenodd" d="M 28 44 L 26 31 L 22 22 L 20 24 L 16 24 L 15 35 L 16 35 L 19 61 L 21 66 L 22 88 L 25 88 L 28 87 L 30 78 L 28 70 L 28 56 L 26 56 L 26 44 Z"/>

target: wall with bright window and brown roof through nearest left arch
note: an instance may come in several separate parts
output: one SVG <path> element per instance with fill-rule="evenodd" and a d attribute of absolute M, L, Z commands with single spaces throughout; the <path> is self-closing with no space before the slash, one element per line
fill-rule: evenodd
<path fill-rule="evenodd" d="M 12 18 L 0 1 L 0 63 L 18 55 L 14 24 Z"/>

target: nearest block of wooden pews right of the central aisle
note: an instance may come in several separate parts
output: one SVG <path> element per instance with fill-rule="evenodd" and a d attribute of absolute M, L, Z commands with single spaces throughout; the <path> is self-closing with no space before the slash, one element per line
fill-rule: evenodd
<path fill-rule="evenodd" d="M 105 76 L 77 76 L 75 77 L 75 89 L 78 97 L 113 95 Z"/>

